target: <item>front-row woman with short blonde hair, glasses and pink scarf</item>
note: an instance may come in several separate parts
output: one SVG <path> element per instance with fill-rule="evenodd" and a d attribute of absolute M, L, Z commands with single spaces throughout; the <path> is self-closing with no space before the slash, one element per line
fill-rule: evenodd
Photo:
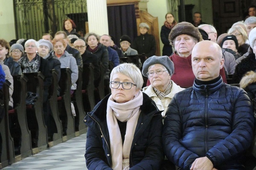
<path fill-rule="evenodd" d="M 112 70 L 112 94 L 84 118 L 88 169 L 160 169 L 161 111 L 140 91 L 142 85 L 135 65 L 123 63 Z"/>

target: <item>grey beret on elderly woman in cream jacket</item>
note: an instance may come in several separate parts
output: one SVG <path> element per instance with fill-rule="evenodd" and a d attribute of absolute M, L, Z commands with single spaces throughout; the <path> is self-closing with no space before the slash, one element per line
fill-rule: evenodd
<path fill-rule="evenodd" d="M 142 67 L 142 74 L 147 77 L 148 68 L 153 64 L 161 64 L 165 66 L 168 70 L 169 74 L 172 76 L 174 73 L 174 64 L 168 56 L 152 56 L 149 57 L 144 63 Z"/>

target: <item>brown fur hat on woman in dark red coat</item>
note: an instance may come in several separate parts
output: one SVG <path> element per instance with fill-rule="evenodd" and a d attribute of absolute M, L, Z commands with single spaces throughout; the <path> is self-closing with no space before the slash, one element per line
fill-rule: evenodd
<path fill-rule="evenodd" d="M 182 34 L 190 35 L 191 37 L 196 38 L 197 42 L 199 42 L 200 38 L 202 37 L 202 35 L 198 31 L 198 29 L 195 26 L 193 26 L 193 24 L 191 24 L 189 22 L 180 22 L 176 26 L 173 27 L 173 29 L 171 30 L 171 32 L 169 34 L 170 44 L 173 45 L 173 40 L 177 36 L 182 35 Z"/>

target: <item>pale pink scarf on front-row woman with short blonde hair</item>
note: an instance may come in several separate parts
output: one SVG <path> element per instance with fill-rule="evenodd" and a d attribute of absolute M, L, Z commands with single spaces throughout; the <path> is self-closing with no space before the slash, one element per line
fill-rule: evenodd
<path fill-rule="evenodd" d="M 110 139 L 111 168 L 113 170 L 130 169 L 129 155 L 142 103 L 143 95 L 141 91 L 126 103 L 116 103 L 112 95 L 109 97 L 106 120 Z M 127 121 L 124 145 L 117 120 Z"/>

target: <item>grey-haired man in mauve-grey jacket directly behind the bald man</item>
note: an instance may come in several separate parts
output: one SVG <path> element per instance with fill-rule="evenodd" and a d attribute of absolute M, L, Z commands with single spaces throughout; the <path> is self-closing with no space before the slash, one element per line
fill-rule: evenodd
<path fill-rule="evenodd" d="M 208 38 L 211 39 L 211 41 L 213 41 L 214 43 L 217 42 L 217 31 L 212 25 L 201 24 L 198 27 L 202 28 L 208 34 Z M 226 74 L 234 74 L 234 70 L 237 65 L 235 57 L 231 52 L 232 50 L 226 51 L 225 49 L 222 48 L 222 58 L 224 58 L 225 60 L 224 69 L 226 71 Z"/>

